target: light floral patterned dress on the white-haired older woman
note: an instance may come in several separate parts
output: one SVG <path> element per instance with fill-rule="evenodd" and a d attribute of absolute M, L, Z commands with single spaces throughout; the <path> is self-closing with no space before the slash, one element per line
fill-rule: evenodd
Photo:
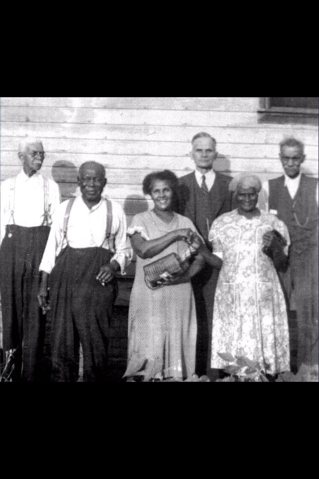
<path fill-rule="evenodd" d="M 262 251 L 262 236 L 277 230 L 290 243 L 286 225 L 270 213 L 247 219 L 234 210 L 210 229 L 213 251 L 222 253 L 215 293 L 211 367 L 228 363 L 218 352 L 246 356 L 270 374 L 290 370 L 286 303 L 272 260 Z"/>

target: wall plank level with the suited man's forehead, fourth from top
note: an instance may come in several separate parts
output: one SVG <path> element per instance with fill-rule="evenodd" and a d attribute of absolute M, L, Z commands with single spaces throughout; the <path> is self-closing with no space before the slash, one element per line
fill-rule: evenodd
<path fill-rule="evenodd" d="M 17 142 L 22 138 L 1 137 L 1 151 L 16 151 Z M 153 155 L 168 157 L 187 157 L 188 142 L 158 142 L 158 141 L 120 141 L 120 140 L 90 140 L 90 139 L 56 139 L 47 138 L 44 148 L 47 152 L 90 153 L 111 155 Z M 224 143 L 218 148 L 219 155 L 232 158 L 275 158 L 278 155 L 278 145 Z M 309 158 L 318 158 L 318 147 L 308 146 Z"/>

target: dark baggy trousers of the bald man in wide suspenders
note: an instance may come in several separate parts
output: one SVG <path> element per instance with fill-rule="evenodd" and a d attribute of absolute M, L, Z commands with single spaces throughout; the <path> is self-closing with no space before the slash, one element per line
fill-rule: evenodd
<path fill-rule="evenodd" d="M 83 350 L 83 382 L 107 380 L 108 333 L 116 280 L 102 286 L 96 279 L 113 253 L 66 246 L 49 276 L 53 382 L 75 382 L 79 344 Z"/>

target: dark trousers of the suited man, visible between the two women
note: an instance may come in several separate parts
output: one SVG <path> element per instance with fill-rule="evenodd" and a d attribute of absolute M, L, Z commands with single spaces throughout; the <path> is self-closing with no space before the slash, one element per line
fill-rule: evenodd
<path fill-rule="evenodd" d="M 218 377 L 216 370 L 210 367 L 214 296 L 218 274 L 218 269 L 206 264 L 192 279 L 197 316 L 195 372 L 198 376 L 206 374 L 210 380 Z"/>

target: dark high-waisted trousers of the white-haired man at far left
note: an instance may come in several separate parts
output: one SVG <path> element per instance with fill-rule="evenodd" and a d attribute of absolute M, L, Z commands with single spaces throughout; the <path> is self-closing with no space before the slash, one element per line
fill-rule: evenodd
<path fill-rule="evenodd" d="M 13 381 L 41 380 L 45 316 L 38 305 L 37 294 L 39 264 L 49 231 L 47 226 L 10 225 L 1 243 L 3 349 L 17 349 Z"/>

